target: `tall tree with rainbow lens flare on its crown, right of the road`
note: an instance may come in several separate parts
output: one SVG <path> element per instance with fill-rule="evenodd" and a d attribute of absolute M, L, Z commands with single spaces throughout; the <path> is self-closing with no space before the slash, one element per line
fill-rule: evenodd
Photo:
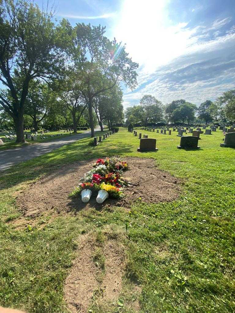
<path fill-rule="evenodd" d="M 110 41 L 105 27 L 76 24 L 77 38 L 74 62 L 80 72 L 82 93 L 86 99 L 90 116 L 91 137 L 94 137 L 92 105 L 97 95 L 112 89 L 122 81 L 130 89 L 137 85 L 138 64 L 128 57 L 125 45 L 116 39 Z"/>

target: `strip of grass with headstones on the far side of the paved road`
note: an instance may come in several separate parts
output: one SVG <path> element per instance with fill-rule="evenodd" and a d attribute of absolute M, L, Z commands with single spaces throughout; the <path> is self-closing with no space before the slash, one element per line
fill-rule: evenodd
<path fill-rule="evenodd" d="M 50 133 L 45 133 L 43 134 L 44 137 L 48 137 L 46 139 L 38 139 L 37 141 L 33 141 L 31 139 L 26 139 L 27 143 L 16 143 L 15 141 L 12 141 L 12 140 L 8 140 L 7 142 L 4 142 L 4 145 L 3 146 L 0 146 L 0 151 L 2 150 L 8 150 L 8 149 L 13 149 L 13 148 L 18 148 L 18 147 L 21 147 L 21 146 L 24 146 L 24 145 L 33 145 L 35 143 L 39 143 L 39 142 L 48 142 L 48 141 L 51 141 L 51 140 L 55 140 L 57 138 L 63 138 L 63 137 L 67 137 L 67 136 L 74 136 L 74 135 L 77 135 L 77 134 L 81 134 L 83 133 L 84 131 L 78 131 L 76 134 L 70 134 L 70 133 L 60 133 L 59 131 L 50 131 Z M 30 133 L 30 132 L 29 132 Z M 62 136 L 56 136 L 56 137 L 49 137 L 50 135 L 57 135 L 57 134 L 62 134 Z M 3 138 L 5 136 L 2 136 Z"/>

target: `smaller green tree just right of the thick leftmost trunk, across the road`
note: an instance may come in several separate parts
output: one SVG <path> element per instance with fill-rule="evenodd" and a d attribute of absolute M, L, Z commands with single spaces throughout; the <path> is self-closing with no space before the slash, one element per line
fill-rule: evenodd
<path fill-rule="evenodd" d="M 56 94 L 48 84 L 41 83 L 38 79 L 30 81 L 24 113 L 32 117 L 35 131 L 38 130 L 38 124 L 45 118 L 55 102 Z"/>

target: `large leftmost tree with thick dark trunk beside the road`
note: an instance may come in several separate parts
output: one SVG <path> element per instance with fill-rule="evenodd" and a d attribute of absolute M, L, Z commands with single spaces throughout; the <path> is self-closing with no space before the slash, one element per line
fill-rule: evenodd
<path fill-rule="evenodd" d="M 14 120 L 18 143 L 25 141 L 29 82 L 36 77 L 53 79 L 64 64 L 61 48 L 68 41 L 67 29 L 63 32 L 62 24 L 55 27 L 52 19 L 52 12 L 41 12 L 29 0 L 0 3 L 0 81 L 10 95 L 0 93 L 0 104 Z"/>

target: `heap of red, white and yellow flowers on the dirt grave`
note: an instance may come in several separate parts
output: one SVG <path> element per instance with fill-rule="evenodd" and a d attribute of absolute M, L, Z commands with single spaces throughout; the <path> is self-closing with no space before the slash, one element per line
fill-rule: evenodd
<path fill-rule="evenodd" d="M 78 187 L 70 193 L 70 198 L 80 196 L 82 190 L 89 189 L 94 192 L 105 190 L 110 198 L 122 198 L 123 187 L 128 186 L 128 182 L 122 177 L 123 171 L 128 169 L 128 164 L 118 157 L 98 159 L 93 164 L 93 169 L 86 172 Z"/>

